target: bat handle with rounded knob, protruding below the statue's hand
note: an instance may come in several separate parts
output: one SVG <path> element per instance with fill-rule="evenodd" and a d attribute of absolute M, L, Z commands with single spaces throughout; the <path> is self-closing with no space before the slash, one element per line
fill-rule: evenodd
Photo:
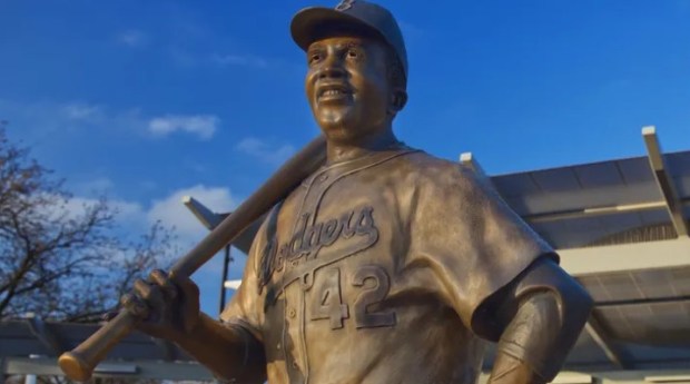
<path fill-rule="evenodd" d="M 96 365 L 134 329 L 137 321 L 129 312 L 121 311 L 76 348 L 60 355 L 58 365 L 73 381 L 89 380 Z"/>

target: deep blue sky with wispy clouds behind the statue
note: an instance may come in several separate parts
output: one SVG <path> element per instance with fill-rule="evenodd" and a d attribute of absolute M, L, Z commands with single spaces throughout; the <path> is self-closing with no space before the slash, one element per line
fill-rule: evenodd
<path fill-rule="evenodd" d="M 310 1 L 0 1 L 0 119 L 132 233 L 205 229 L 317 135 L 292 16 Z M 397 17 L 408 145 L 490 175 L 690 149 L 690 0 L 381 1 Z M 233 277 L 244 256 L 237 255 Z M 219 257 L 195 277 L 215 314 Z"/>

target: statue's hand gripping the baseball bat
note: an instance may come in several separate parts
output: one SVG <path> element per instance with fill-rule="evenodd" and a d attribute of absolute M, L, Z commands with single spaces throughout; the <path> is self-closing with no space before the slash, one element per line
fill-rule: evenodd
<path fill-rule="evenodd" d="M 138 317 L 137 329 L 154 337 L 178 341 L 199 322 L 199 287 L 188 277 L 171 279 L 155 269 L 147 280 L 137 279 L 120 305 Z"/>

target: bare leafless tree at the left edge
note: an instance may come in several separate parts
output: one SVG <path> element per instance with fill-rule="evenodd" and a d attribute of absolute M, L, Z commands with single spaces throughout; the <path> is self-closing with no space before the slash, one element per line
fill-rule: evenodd
<path fill-rule="evenodd" d="M 77 204 L 51 174 L 0 125 L 0 319 L 98 321 L 172 250 L 160 223 L 122 240 L 106 199 Z"/>

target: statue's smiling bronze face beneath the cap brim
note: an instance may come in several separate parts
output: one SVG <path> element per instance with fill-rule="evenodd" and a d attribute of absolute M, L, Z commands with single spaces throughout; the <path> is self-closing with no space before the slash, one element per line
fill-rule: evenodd
<path fill-rule="evenodd" d="M 307 61 L 307 99 L 328 140 L 356 142 L 385 129 L 392 89 L 384 46 L 362 37 L 326 38 L 309 46 Z"/>

